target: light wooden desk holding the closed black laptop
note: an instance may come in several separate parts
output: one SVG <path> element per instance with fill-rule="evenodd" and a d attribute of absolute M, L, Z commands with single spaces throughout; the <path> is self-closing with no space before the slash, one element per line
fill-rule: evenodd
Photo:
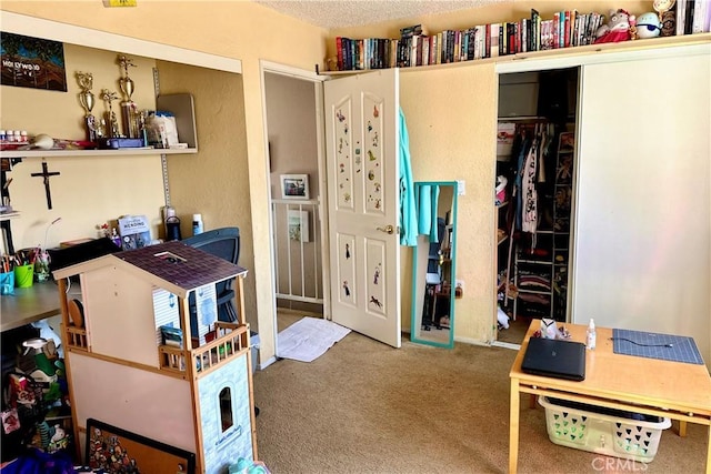
<path fill-rule="evenodd" d="M 585 327 L 567 324 L 572 340 L 585 341 Z M 572 382 L 529 375 L 521 372 L 521 361 L 529 339 L 540 329 L 540 320 L 531 321 L 528 333 L 513 361 L 509 425 L 509 473 L 513 474 L 519 461 L 519 414 L 521 393 L 553 396 L 611 409 L 620 409 L 709 426 L 707 474 L 711 474 L 711 377 L 705 365 L 669 362 L 657 359 L 615 354 L 612 330 L 598 327 L 598 344 L 587 351 L 585 380 Z"/>

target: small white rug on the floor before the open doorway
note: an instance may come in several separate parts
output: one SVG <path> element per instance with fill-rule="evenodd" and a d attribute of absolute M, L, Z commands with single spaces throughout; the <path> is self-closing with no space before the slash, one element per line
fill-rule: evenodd
<path fill-rule="evenodd" d="M 351 332 L 328 320 L 303 317 L 277 334 L 277 356 L 311 362 Z"/>

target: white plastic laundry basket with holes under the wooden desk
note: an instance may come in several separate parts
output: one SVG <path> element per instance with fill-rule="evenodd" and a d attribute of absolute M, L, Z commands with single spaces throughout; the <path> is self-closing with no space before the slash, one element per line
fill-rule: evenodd
<path fill-rule="evenodd" d="M 642 415 L 568 400 L 539 396 L 545 409 L 548 437 L 555 444 L 608 456 L 650 463 L 654 460 L 667 417 Z"/>

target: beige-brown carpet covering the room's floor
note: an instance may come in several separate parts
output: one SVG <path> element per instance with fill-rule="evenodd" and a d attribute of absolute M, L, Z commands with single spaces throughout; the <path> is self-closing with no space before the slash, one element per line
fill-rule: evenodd
<path fill-rule="evenodd" d="M 278 361 L 254 374 L 259 458 L 273 474 L 505 473 L 514 356 L 460 343 L 395 350 L 352 332 L 314 362 Z M 703 472 L 699 425 L 680 438 L 674 423 L 643 465 L 555 445 L 544 420 L 524 395 L 521 473 Z"/>

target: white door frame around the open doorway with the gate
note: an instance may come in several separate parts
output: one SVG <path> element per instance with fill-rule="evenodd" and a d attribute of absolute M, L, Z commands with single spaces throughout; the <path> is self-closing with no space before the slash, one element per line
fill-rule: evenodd
<path fill-rule="evenodd" d="M 272 62 L 268 60 L 259 61 L 259 71 L 260 71 L 260 81 L 261 81 L 261 90 L 262 90 L 262 129 L 263 129 L 263 139 L 264 139 L 264 150 L 269 150 L 269 128 L 268 128 L 268 118 L 267 118 L 267 87 L 266 87 L 266 74 L 279 74 L 290 77 L 300 81 L 312 82 L 314 88 L 314 101 L 316 101 L 316 118 L 317 120 L 317 161 L 318 161 L 318 171 L 319 171 L 319 192 L 320 192 L 320 202 L 319 202 L 319 219 L 321 221 L 321 261 L 323 262 L 323 270 L 321 272 L 322 279 L 322 289 L 323 289 L 323 319 L 331 320 L 331 266 L 329 259 L 329 222 L 328 222 L 328 212 L 324 209 L 328 200 L 328 182 L 327 182 L 327 173 L 326 173 L 326 122 L 323 118 L 323 81 L 328 80 L 328 77 L 319 75 L 312 71 L 308 71 L 306 69 L 299 69 L 292 65 L 281 64 L 278 62 Z M 269 162 L 264 161 L 264 180 L 267 183 L 270 182 L 270 169 Z M 271 186 L 269 189 L 269 202 L 271 202 Z M 271 212 L 271 206 L 270 206 Z M 273 220 L 269 219 L 269 234 L 273 235 Z M 272 304 L 272 324 L 274 327 L 273 337 L 274 337 L 274 354 L 279 353 L 278 346 L 278 326 L 277 326 L 277 286 L 273 275 L 277 274 L 276 261 L 274 261 L 274 242 L 273 240 L 269 240 L 269 254 L 271 255 L 271 283 L 270 283 L 270 292 L 271 292 L 271 304 Z"/>

